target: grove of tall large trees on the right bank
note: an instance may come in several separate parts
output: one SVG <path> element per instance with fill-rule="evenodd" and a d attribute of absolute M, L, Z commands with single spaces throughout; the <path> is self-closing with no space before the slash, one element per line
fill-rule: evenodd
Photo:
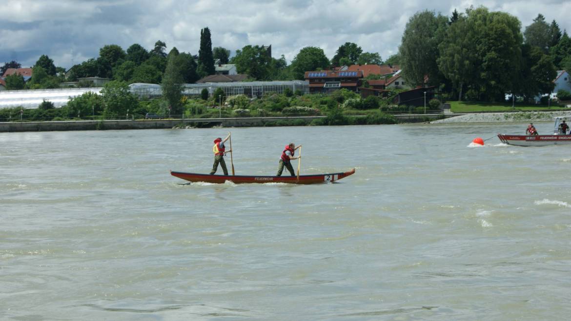
<path fill-rule="evenodd" d="M 522 33 L 516 17 L 483 6 L 451 17 L 425 10 L 409 19 L 399 55 L 413 86 L 459 100 L 530 101 L 553 91 L 557 70 L 571 70 L 571 39 L 542 14 Z"/>

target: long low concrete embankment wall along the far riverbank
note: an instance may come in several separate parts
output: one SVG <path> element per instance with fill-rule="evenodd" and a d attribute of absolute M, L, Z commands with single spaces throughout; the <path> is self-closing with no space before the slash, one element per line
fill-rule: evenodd
<path fill-rule="evenodd" d="M 401 121 L 424 121 L 437 119 L 441 114 L 398 115 Z M 22 123 L 0 123 L 0 132 L 43 132 L 43 131 L 95 131 L 111 129 L 164 129 L 175 126 L 223 126 L 223 127 L 260 127 L 269 122 L 280 120 L 306 120 L 324 116 L 307 117 L 248 117 L 248 118 L 210 118 L 210 119 L 160 119 L 160 120 L 70 120 L 70 121 L 29 121 Z"/>

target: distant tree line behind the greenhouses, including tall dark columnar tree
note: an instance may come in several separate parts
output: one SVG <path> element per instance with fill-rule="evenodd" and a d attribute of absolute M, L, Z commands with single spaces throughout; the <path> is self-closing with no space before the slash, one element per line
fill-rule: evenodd
<path fill-rule="evenodd" d="M 182 76 L 182 83 L 195 83 L 207 75 L 215 74 L 214 60 L 222 64 L 236 64 L 239 74 L 247 74 L 248 80 L 293 80 L 303 79 L 305 71 L 323 70 L 339 64 L 381 64 L 381 56 L 377 52 L 363 52 L 355 43 L 347 42 L 339 47 L 331 60 L 319 47 L 304 47 L 288 64 L 284 55 L 279 59 L 270 56 L 265 47 L 247 45 L 235 51 L 230 57 L 230 50 L 224 47 L 212 48 L 211 32 L 208 27 L 200 31 L 200 49 L 198 55 L 190 52 L 179 52 L 173 47 L 167 54 L 167 45 L 161 40 L 155 42 L 154 48 L 147 51 L 138 43 L 127 50 L 116 44 L 108 44 L 99 49 L 98 58 L 90 58 L 71 67 L 69 72 L 55 67 L 52 59 L 42 55 L 34 64 L 34 76 L 31 82 L 25 83 L 19 75 L 6 79 L 9 90 L 59 88 L 59 83 L 76 82 L 80 78 L 100 77 L 127 83 L 160 84 L 168 75 L 168 60 L 171 54 L 176 55 L 172 72 Z M 21 68 L 15 61 L 7 62 L 0 69 L 0 75 L 7 68 Z M 176 77 L 175 77 L 176 78 Z M 170 80 L 169 80 L 170 81 Z M 78 87 L 89 87 L 89 82 L 79 83 Z"/>

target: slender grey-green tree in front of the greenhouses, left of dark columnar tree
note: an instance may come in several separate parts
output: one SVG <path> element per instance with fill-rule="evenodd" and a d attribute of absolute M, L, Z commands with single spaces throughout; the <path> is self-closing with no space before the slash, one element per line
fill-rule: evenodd
<path fill-rule="evenodd" d="M 182 88 L 183 76 L 177 66 L 177 58 L 179 56 L 176 47 L 172 48 L 168 53 L 167 69 L 164 71 L 163 80 L 160 87 L 163 90 L 163 99 L 168 101 L 168 106 L 171 113 L 179 115 L 182 113 Z"/>

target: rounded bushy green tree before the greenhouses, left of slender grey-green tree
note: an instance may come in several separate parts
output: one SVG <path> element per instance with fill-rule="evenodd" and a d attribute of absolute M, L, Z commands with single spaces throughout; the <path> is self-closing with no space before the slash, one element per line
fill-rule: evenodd
<path fill-rule="evenodd" d="M 104 84 L 101 95 L 104 102 L 103 115 L 107 118 L 127 117 L 128 111 L 134 111 L 138 105 L 126 82 L 113 80 Z"/>

